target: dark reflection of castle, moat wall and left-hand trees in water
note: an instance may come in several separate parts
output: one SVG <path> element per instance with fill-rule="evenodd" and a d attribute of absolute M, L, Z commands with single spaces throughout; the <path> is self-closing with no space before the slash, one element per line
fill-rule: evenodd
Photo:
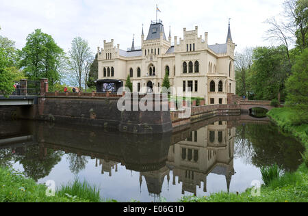
<path fill-rule="evenodd" d="M 48 176 L 66 154 L 70 156 L 70 169 L 74 173 L 86 169 L 83 163 L 88 161 L 83 162 L 82 158 L 90 157 L 101 167 L 103 175 L 112 177 L 120 165 L 139 172 L 140 190 L 145 181 L 150 195 L 162 193 L 165 179 L 168 187 L 182 183 L 183 194 L 187 191 L 197 195 L 201 183 L 207 192 L 210 173 L 225 176 L 229 191 L 235 173 L 235 127 L 228 122 L 216 118 L 194 124 L 185 131 L 162 135 L 129 135 L 38 122 L 14 125 L 3 122 L 0 150 L 9 150 L 14 157 L 12 161 L 20 161 L 25 175 L 34 180 Z"/>

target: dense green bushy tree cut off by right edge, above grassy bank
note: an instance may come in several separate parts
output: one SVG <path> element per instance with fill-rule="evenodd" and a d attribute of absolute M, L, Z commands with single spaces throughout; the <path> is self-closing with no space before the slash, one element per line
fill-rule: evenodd
<path fill-rule="evenodd" d="M 296 58 L 292 67 L 292 75 L 287 79 L 285 86 L 287 103 L 295 107 L 308 108 L 308 48 Z"/>

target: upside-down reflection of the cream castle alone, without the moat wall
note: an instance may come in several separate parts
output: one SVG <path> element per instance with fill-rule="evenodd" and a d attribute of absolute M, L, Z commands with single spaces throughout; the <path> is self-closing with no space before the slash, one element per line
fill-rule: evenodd
<path fill-rule="evenodd" d="M 166 163 L 157 170 L 140 172 L 140 188 L 143 180 L 149 193 L 162 193 L 165 178 L 170 184 L 170 172 L 173 173 L 172 184 L 182 183 L 182 194 L 186 192 L 197 195 L 197 187 L 207 192 L 207 176 L 218 174 L 225 176 L 226 189 L 229 191 L 233 168 L 235 127 L 228 128 L 227 122 L 214 122 L 196 131 L 185 131 L 172 135 L 172 144 L 168 150 Z M 118 162 L 96 159 L 96 166 L 101 166 L 101 174 L 118 172 Z M 123 164 L 122 164 L 123 165 Z M 142 178 L 143 177 L 143 178 Z M 176 177 L 178 181 L 176 182 Z"/>

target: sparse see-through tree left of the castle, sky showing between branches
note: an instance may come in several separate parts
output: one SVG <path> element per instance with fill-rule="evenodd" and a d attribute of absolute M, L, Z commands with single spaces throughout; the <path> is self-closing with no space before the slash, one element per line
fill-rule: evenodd
<path fill-rule="evenodd" d="M 88 71 L 90 62 L 93 60 L 92 56 L 88 42 L 80 37 L 74 38 L 72 47 L 68 51 L 68 66 L 73 72 L 80 90 L 83 83 L 85 88 L 88 83 Z"/>

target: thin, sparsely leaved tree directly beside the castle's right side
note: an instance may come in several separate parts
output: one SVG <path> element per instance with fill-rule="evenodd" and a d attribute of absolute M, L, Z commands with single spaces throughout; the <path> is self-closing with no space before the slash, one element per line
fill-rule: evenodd
<path fill-rule="evenodd" d="M 253 65 L 253 49 L 246 48 L 242 53 L 235 53 L 236 94 L 246 96 L 248 92 L 248 72 Z"/>

